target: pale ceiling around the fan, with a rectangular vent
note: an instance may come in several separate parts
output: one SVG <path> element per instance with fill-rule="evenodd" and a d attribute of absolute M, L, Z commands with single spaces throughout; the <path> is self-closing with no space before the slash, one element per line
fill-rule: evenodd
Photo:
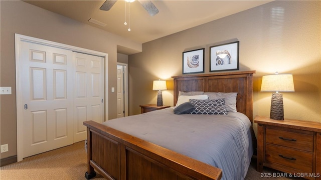
<path fill-rule="evenodd" d="M 130 3 L 131 31 L 125 21 L 125 1 L 118 0 L 110 10 L 100 10 L 105 0 L 26 0 L 44 9 L 143 43 L 228 16 L 272 0 L 152 0 L 159 12 L 150 16 L 139 1 Z M 128 10 L 128 5 L 127 5 Z M 107 24 L 99 26 L 90 18 Z"/>

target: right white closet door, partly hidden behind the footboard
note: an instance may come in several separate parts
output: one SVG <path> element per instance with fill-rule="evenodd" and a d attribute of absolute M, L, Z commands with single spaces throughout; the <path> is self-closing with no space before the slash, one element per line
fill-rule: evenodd
<path fill-rule="evenodd" d="M 86 139 L 83 122 L 104 120 L 104 58 L 75 53 L 74 141 Z"/>

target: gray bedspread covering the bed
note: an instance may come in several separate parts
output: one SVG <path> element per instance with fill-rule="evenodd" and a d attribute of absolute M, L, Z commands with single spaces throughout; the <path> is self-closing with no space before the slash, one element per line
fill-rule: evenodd
<path fill-rule="evenodd" d="M 240 112 L 174 114 L 170 107 L 103 124 L 219 167 L 222 179 L 244 179 L 253 154 L 251 122 Z"/>

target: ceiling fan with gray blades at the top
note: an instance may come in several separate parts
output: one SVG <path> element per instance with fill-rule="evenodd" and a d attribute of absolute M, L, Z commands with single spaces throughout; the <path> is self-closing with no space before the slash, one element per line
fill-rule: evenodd
<path fill-rule="evenodd" d="M 106 0 L 100 7 L 100 10 L 109 10 L 117 0 Z M 134 0 L 125 0 L 133 2 Z M 145 8 L 150 16 L 156 15 L 159 11 L 157 7 L 150 0 L 138 0 L 139 3 Z"/>

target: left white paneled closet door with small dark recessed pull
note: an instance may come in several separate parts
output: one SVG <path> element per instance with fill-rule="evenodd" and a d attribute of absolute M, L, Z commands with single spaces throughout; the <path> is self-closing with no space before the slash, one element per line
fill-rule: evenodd
<path fill-rule="evenodd" d="M 73 143 L 73 52 L 24 41 L 21 47 L 27 157 Z"/>

